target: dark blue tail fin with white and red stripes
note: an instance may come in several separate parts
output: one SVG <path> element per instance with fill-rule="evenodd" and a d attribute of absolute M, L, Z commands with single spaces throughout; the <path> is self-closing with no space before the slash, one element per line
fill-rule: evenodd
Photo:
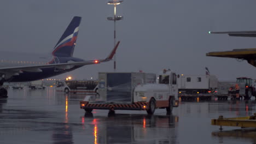
<path fill-rule="evenodd" d="M 78 27 L 81 22 L 81 17 L 74 16 L 69 23 L 66 31 L 62 34 L 60 40 L 55 45 L 51 54 L 56 57 L 72 57 L 75 43 L 77 41 Z"/>

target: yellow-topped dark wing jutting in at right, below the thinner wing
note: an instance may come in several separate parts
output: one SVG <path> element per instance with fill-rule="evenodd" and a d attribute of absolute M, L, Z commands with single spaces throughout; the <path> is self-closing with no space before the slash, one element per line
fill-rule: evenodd
<path fill-rule="evenodd" d="M 206 56 L 229 57 L 239 59 L 256 59 L 256 49 L 235 49 L 232 51 L 217 51 L 206 53 Z"/>

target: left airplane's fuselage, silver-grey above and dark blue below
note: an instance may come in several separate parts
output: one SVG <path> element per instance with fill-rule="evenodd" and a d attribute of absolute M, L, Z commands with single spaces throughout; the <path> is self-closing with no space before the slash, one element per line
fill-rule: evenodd
<path fill-rule="evenodd" d="M 50 55 L 39 55 L 36 53 L 19 53 L 19 52 L 0 52 L 0 68 L 2 67 L 19 67 L 28 65 L 46 65 L 56 63 L 83 62 L 83 59 L 75 57 L 54 57 Z M 40 71 L 20 71 L 18 75 L 7 77 L 8 82 L 26 82 L 45 79 L 47 77 L 60 75 L 80 68 L 42 68 Z M 1 73 L 1 71 L 0 71 Z"/>

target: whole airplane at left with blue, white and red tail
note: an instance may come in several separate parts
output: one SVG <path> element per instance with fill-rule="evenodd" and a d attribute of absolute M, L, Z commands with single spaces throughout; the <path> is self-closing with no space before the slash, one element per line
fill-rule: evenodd
<path fill-rule="evenodd" d="M 75 16 L 49 54 L 0 52 L 0 86 L 3 82 L 26 82 L 60 75 L 88 64 L 112 60 L 120 41 L 107 58 L 84 61 L 73 57 L 81 17 Z M 7 97 L 7 90 L 0 89 L 0 97 Z"/>

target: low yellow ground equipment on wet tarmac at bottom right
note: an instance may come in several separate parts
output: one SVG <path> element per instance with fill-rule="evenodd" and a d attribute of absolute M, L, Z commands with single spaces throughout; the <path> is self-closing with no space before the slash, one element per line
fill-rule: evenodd
<path fill-rule="evenodd" d="M 219 125 L 220 130 L 223 129 L 222 126 L 256 128 L 256 113 L 248 117 L 224 118 L 223 116 L 219 116 L 218 119 L 212 119 L 212 125 Z"/>

